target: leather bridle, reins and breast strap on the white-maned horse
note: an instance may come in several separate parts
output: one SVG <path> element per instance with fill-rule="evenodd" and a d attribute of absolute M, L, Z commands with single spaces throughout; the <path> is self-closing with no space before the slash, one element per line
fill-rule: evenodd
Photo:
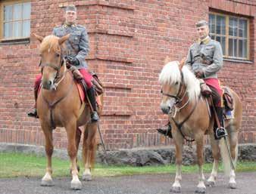
<path fill-rule="evenodd" d="M 186 115 L 186 118 L 183 119 L 182 122 L 178 123 L 174 120 L 174 118 L 176 117 L 176 112 L 180 112 L 181 109 L 185 108 L 188 104 L 189 104 L 189 98 L 188 100 L 186 100 L 186 103 L 183 104 L 183 106 L 179 106 L 179 104 L 183 103 L 183 100 L 184 98 L 186 97 L 186 87 L 183 85 L 183 72 L 180 71 L 180 75 L 181 75 L 181 83 L 180 83 L 180 88 L 178 90 L 178 93 L 176 95 L 173 95 L 173 94 L 167 94 L 167 93 L 164 93 L 162 90 L 161 90 L 161 94 L 164 95 L 164 96 L 167 96 L 167 97 L 173 97 L 175 98 L 175 103 L 174 103 L 174 114 L 171 116 L 174 124 L 176 125 L 176 128 L 178 128 L 180 130 L 180 133 L 182 134 L 183 138 L 186 140 L 186 141 L 189 141 L 189 142 L 192 142 L 192 141 L 195 141 L 194 139 L 192 140 L 189 140 L 185 137 L 185 135 L 183 134 L 183 131 L 182 131 L 182 127 L 183 127 L 183 124 L 189 120 L 190 116 L 192 115 L 192 113 L 195 111 L 195 107 L 197 106 L 198 104 L 198 100 L 195 101 L 195 104 L 194 106 L 192 107 L 192 110 L 189 112 L 189 115 Z M 170 113 L 169 113 L 170 115 Z"/>

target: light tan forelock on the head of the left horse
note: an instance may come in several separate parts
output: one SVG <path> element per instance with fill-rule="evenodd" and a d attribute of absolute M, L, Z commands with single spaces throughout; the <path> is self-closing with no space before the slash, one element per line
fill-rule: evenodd
<path fill-rule="evenodd" d="M 58 37 L 55 35 L 47 35 L 42 40 L 42 43 L 40 45 L 40 52 L 48 51 L 48 52 L 60 52 L 61 51 L 61 45 L 58 43 Z"/>

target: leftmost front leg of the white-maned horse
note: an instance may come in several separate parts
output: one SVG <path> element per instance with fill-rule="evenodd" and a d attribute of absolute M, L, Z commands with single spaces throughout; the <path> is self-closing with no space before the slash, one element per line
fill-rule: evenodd
<path fill-rule="evenodd" d="M 174 131 L 173 131 L 174 132 Z M 176 176 L 172 186 L 170 189 L 171 192 L 180 192 L 181 185 L 180 181 L 181 177 L 181 165 L 183 162 L 182 152 L 183 152 L 183 137 L 180 134 L 176 134 L 176 131 L 173 133 L 173 140 L 175 143 L 175 156 L 176 156 Z"/>

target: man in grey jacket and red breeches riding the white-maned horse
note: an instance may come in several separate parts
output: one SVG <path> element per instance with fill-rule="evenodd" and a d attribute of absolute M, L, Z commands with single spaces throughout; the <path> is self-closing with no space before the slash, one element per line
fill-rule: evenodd
<path fill-rule="evenodd" d="M 211 39 L 209 36 L 208 23 L 205 20 L 198 21 L 198 23 L 196 23 L 196 29 L 199 38 L 198 41 L 189 48 L 186 65 L 191 67 L 198 79 L 203 79 L 204 82 L 201 80 L 201 91 L 203 94 L 209 93 L 208 88 L 211 88 L 211 95 L 217 116 L 220 125 L 223 127 L 223 108 L 221 106 L 223 91 L 217 79 L 217 72 L 220 71 L 223 66 L 222 49 L 220 43 Z M 157 130 L 161 134 L 172 137 L 170 122 L 167 124 L 166 128 L 158 128 Z M 217 128 L 217 123 L 214 122 L 215 139 L 220 140 L 220 138 L 225 135 L 226 131 L 223 128 Z"/>

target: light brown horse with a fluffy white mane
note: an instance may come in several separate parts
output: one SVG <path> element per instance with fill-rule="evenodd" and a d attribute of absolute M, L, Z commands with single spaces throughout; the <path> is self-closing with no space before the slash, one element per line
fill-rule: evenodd
<path fill-rule="evenodd" d="M 198 157 L 199 183 L 195 192 L 205 192 L 206 188 L 202 168 L 204 162 L 204 134 L 210 134 L 214 157 L 214 165 L 211 176 L 208 179 L 208 185 L 213 186 L 215 184 L 221 152 L 224 168 L 228 168 L 229 186 L 235 188 L 235 171 L 230 169 L 229 156 L 223 138 L 220 140 L 220 150 L 219 140 L 214 140 L 214 119 L 209 116 L 208 106 L 204 97 L 201 96 L 198 79 L 195 78 L 194 73 L 191 72 L 188 66 L 183 66 L 184 62 L 179 63 L 177 61 L 170 62 L 170 60 L 166 60 L 166 63 L 159 75 L 159 82 L 161 83 L 163 94 L 161 109 L 165 114 L 169 115 L 170 123 L 173 127 L 173 140 L 176 146 L 176 177 L 171 190 L 173 192 L 180 192 L 182 149 L 184 136 L 187 136 L 195 139 Z M 238 154 L 238 131 L 242 120 L 242 103 L 238 95 L 234 91 L 230 91 L 234 100 L 234 119 L 226 121 L 226 131 L 228 132 L 231 156 L 236 164 Z M 175 112 L 173 112 L 173 110 L 175 110 Z M 183 125 L 181 123 L 183 123 Z M 179 129 L 177 125 L 180 124 L 182 126 Z"/>

